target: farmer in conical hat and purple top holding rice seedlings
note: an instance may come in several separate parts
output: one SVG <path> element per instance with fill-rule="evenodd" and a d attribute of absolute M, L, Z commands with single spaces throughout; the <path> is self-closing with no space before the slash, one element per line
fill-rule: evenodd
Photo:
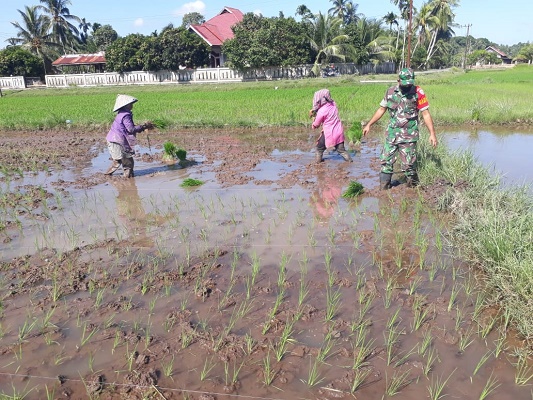
<path fill-rule="evenodd" d="M 117 169 L 124 169 L 124 177 L 133 177 L 133 154 L 135 153 L 133 147 L 137 141 L 137 133 L 146 129 L 152 129 L 153 124 L 149 121 L 142 125 L 135 125 L 133 123 L 133 103 L 136 103 L 137 99 L 125 94 L 119 94 L 115 101 L 115 107 L 113 112 L 117 113 L 111 129 L 106 136 L 107 148 L 109 154 L 113 159 L 113 163 L 109 169 L 105 172 L 105 175 L 113 175 Z"/>

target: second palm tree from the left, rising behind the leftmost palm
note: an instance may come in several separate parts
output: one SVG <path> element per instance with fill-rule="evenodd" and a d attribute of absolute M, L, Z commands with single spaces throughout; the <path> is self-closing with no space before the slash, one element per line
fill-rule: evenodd
<path fill-rule="evenodd" d="M 79 17 L 70 14 L 68 5 L 70 0 L 40 0 L 44 5 L 37 6 L 49 18 L 48 28 L 52 30 L 52 38 L 61 45 L 63 53 L 66 49 L 74 47 L 74 37 L 78 35 L 78 29 L 69 21 L 79 23 Z"/>

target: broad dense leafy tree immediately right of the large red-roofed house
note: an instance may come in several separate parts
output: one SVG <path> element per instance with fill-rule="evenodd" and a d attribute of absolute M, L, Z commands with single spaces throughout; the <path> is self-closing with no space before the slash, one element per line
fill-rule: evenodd
<path fill-rule="evenodd" d="M 305 28 L 294 18 L 265 18 L 253 13 L 233 27 L 235 36 L 222 51 L 240 71 L 269 66 L 293 66 L 310 60 Z"/>

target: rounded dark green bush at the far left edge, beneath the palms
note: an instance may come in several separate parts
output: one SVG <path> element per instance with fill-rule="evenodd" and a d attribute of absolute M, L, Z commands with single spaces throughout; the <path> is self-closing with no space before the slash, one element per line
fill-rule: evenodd
<path fill-rule="evenodd" d="M 42 60 L 20 46 L 0 50 L 0 76 L 44 77 Z"/>

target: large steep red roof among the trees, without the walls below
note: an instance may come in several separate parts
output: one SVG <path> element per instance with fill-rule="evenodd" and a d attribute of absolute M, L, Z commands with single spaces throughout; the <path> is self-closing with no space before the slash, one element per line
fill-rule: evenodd
<path fill-rule="evenodd" d="M 221 46 L 226 40 L 233 38 L 231 27 L 241 22 L 242 18 L 241 11 L 236 8 L 224 7 L 218 15 L 201 25 L 191 25 L 190 28 L 210 46 Z"/>

